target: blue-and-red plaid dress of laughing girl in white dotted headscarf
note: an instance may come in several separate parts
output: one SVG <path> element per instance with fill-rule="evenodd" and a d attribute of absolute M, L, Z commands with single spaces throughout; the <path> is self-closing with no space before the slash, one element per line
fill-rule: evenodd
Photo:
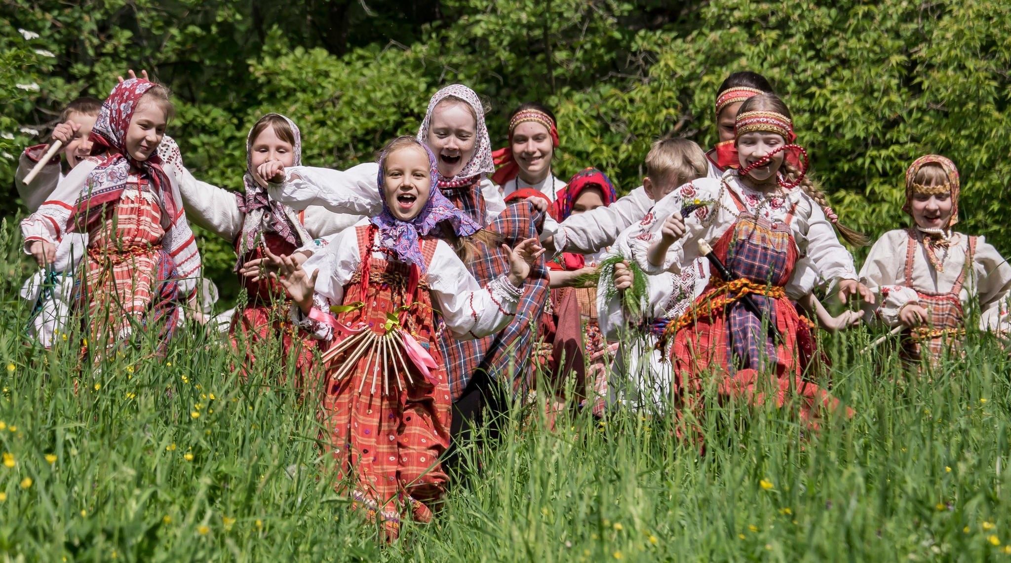
<path fill-rule="evenodd" d="M 443 193 L 459 209 L 484 224 L 484 199 L 477 184 L 444 188 Z M 544 213 L 537 211 L 530 202 L 521 201 L 508 205 L 500 215 L 492 219 L 488 230 L 501 234 L 507 245 L 515 247 L 526 239 L 536 239 L 543 221 Z M 509 273 L 509 258 L 500 248 L 491 249 L 480 243 L 477 258 L 467 264 L 467 269 L 484 287 L 489 281 Z M 449 331 L 443 331 L 440 345 L 446 358 L 453 400 L 463 394 L 479 370 L 491 379 L 510 382 L 514 387 L 520 387 L 529 380 L 537 323 L 548 293 L 548 268 L 544 258 L 540 258 L 525 282 L 516 317 L 504 330 L 472 341 L 456 340 Z"/>

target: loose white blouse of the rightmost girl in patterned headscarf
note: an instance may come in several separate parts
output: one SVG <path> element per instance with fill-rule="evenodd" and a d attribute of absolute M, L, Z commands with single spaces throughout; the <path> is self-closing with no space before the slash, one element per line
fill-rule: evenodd
<path fill-rule="evenodd" d="M 938 258 L 943 257 L 943 271 L 938 272 L 930 264 L 923 243 L 917 241 L 913 254 L 912 279 L 906 280 L 908 245 L 907 229 L 889 230 L 870 248 L 870 254 L 860 269 L 860 282 L 878 294 L 879 304 L 874 309 L 875 312 L 890 326 L 900 324 L 899 311 L 902 307 L 919 302 L 917 289 L 930 293 L 950 292 L 966 268 L 969 237 L 953 232 L 947 255 L 940 249 L 935 253 Z M 913 287 L 906 287 L 907 282 Z M 1008 331 L 1011 329 L 1007 303 L 1009 291 L 1011 266 L 993 245 L 979 237 L 973 264 L 966 271 L 958 299 L 963 306 L 968 306 L 973 297 L 979 297 L 981 330 Z"/>

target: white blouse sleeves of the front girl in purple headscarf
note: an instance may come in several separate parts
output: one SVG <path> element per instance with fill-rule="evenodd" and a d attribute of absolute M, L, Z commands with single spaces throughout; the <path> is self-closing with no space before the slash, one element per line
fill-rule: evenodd
<path fill-rule="evenodd" d="M 362 219 L 355 226 L 366 224 L 368 220 Z M 316 304 L 324 310 L 343 302 L 344 286 L 351 281 L 361 264 L 356 230 L 349 228 L 320 241 L 324 247 L 302 264 L 309 276 L 316 271 L 319 273 L 315 283 Z M 374 252 L 372 256 L 394 260 L 382 252 Z M 505 276 L 491 280 L 481 288 L 453 249 L 442 240 L 438 241 L 426 280 L 433 306 L 439 310 L 453 337 L 459 340 L 479 339 L 504 329 L 516 316 L 517 305 L 523 296 L 523 288 L 514 286 Z M 301 309 L 297 306 L 293 306 L 291 315 L 295 322 L 305 325 Z M 316 338 L 332 338 L 329 325 L 314 323 L 311 330 Z"/>

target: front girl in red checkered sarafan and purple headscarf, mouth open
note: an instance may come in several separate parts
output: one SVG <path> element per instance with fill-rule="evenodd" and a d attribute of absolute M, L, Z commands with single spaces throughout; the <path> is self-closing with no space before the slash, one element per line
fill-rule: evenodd
<path fill-rule="evenodd" d="M 402 514 L 429 522 L 445 491 L 451 396 L 437 315 L 457 339 L 500 331 L 544 252 L 536 239 L 504 248 L 509 273 L 479 287 L 454 247 L 467 252 L 488 236 L 442 195 L 436 174 L 425 145 L 392 140 L 379 159 L 382 212 L 302 266 L 282 257 L 275 274 L 295 303 L 292 319 L 329 342 L 320 418 L 337 489 L 380 521 L 387 540 Z"/>

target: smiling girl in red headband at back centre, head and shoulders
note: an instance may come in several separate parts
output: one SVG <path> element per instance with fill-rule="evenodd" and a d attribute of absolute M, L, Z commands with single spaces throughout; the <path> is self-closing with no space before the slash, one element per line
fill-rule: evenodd
<path fill-rule="evenodd" d="M 491 154 L 498 167 L 491 181 L 504 197 L 533 188 L 555 201 L 565 187 L 551 169 L 558 148 L 555 114 L 542 104 L 527 102 L 513 110 L 509 119 L 509 145 Z"/>

